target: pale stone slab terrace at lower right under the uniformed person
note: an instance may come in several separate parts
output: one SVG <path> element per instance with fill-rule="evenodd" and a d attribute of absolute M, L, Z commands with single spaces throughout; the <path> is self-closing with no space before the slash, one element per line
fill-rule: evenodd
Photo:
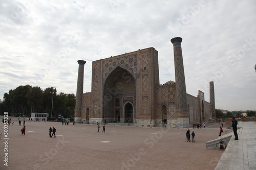
<path fill-rule="evenodd" d="M 256 122 L 239 122 L 238 127 L 239 140 L 232 135 L 216 170 L 256 169 Z"/>

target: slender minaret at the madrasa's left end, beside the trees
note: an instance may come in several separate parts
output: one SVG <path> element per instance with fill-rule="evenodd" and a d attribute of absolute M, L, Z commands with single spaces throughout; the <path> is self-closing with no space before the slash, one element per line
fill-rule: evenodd
<path fill-rule="evenodd" d="M 82 111 L 82 93 L 83 93 L 83 70 L 86 61 L 78 60 L 78 77 L 76 87 L 76 108 L 75 108 L 75 122 L 81 123 L 81 111 Z"/>

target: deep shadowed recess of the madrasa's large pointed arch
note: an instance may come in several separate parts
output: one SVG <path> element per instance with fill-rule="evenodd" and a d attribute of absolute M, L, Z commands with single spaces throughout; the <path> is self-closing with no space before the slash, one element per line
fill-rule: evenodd
<path fill-rule="evenodd" d="M 133 121 L 134 112 L 130 113 L 130 109 L 132 106 L 132 111 L 135 110 L 135 96 L 136 83 L 133 75 L 122 67 L 116 67 L 104 82 L 103 121 L 106 121 L 106 123 L 111 122 L 111 120 L 112 122 L 117 122 L 119 118 L 115 116 L 115 110 L 118 109 L 120 113 L 123 113 L 123 109 L 126 109 L 126 107 L 129 111 L 127 116 L 131 116 L 132 114 L 132 118 L 128 119 L 125 114 L 120 114 L 119 121 Z M 131 106 L 125 106 L 124 108 L 126 102 L 130 102 Z"/>

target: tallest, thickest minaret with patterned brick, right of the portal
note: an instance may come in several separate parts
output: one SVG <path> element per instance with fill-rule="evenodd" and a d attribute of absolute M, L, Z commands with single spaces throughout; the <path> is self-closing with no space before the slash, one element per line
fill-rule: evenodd
<path fill-rule="evenodd" d="M 187 106 L 187 92 L 184 75 L 183 57 L 181 50 L 182 38 L 170 40 L 174 45 L 174 65 L 176 81 L 177 128 L 189 128 L 189 114 Z"/>

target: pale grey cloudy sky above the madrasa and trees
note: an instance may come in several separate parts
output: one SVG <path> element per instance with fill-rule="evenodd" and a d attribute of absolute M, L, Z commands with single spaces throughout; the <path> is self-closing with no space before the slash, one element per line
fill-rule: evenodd
<path fill-rule="evenodd" d="M 217 109 L 256 110 L 256 1 L 0 0 L 0 99 L 19 85 L 76 94 L 77 60 L 139 48 L 158 51 L 160 84 L 175 81 L 173 44 L 182 37 L 187 93 L 215 82 Z"/>

